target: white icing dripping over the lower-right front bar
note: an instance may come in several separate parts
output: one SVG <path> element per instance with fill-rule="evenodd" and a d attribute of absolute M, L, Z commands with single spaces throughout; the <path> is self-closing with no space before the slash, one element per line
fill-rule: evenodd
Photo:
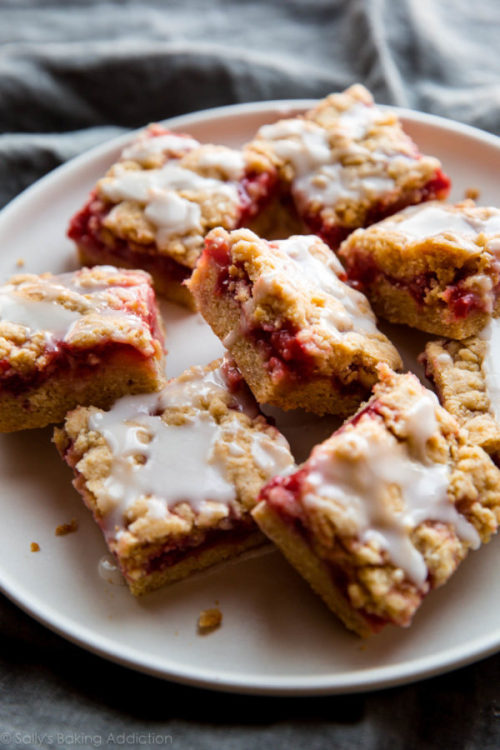
<path fill-rule="evenodd" d="M 429 393 L 407 415 L 408 443 L 353 430 L 344 437 L 352 449 L 349 457 L 332 455 L 327 445 L 316 448 L 308 462 L 311 491 L 304 498 L 309 507 L 340 506 L 360 540 L 375 542 L 418 586 L 427 578 L 425 560 L 410 538 L 419 524 L 450 524 L 472 547 L 480 543 L 474 526 L 448 497 L 448 466 L 426 455 L 425 445 L 437 430 L 434 409 Z M 398 488 L 400 503 L 389 499 L 391 487 Z"/>

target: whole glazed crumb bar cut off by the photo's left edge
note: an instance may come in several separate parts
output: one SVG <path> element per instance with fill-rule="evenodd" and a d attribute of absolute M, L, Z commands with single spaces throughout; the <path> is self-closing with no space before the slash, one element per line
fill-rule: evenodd
<path fill-rule="evenodd" d="M 0 287 L 0 432 L 44 427 L 164 383 L 151 279 L 112 266 L 23 274 Z"/>

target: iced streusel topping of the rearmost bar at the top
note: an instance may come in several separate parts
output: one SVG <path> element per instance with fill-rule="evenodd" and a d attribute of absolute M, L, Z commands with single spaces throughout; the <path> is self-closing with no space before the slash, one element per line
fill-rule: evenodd
<path fill-rule="evenodd" d="M 338 209 L 346 223 L 355 203 L 424 184 L 440 166 L 419 155 L 397 116 L 374 106 L 359 85 L 327 97 L 304 118 L 261 127 L 254 147 L 271 154 L 292 183 L 299 210 Z"/>

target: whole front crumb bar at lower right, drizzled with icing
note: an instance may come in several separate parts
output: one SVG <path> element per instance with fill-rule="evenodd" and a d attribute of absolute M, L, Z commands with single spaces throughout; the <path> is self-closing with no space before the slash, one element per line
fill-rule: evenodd
<path fill-rule="evenodd" d="M 260 528 L 361 636 L 407 626 L 500 522 L 500 472 L 412 374 L 373 398 L 298 471 L 271 480 Z"/>

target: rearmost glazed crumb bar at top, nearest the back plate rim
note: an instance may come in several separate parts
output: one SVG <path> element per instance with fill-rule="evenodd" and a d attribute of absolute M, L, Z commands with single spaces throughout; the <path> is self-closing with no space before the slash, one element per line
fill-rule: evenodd
<path fill-rule="evenodd" d="M 273 161 L 309 230 L 334 250 L 353 229 L 450 188 L 440 162 L 420 154 L 396 114 L 360 85 L 264 125 L 249 147 Z"/>

